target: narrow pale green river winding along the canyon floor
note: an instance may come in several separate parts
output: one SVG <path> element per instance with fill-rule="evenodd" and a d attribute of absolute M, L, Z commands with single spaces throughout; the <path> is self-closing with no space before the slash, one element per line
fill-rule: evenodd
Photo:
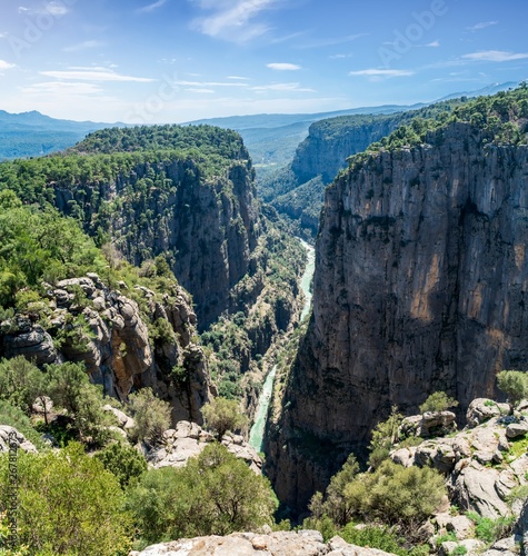
<path fill-rule="evenodd" d="M 305 274 L 302 275 L 300 287 L 305 294 L 305 306 L 302 307 L 300 319 L 303 320 L 309 314 L 311 308 L 311 291 L 310 284 L 316 268 L 316 250 L 311 245 L 300 240 L 302 247 L 306 249 L 308 261 L 306 265 Z M 260 394 L 257 411 L 255 413 L 255 423 L 249 433 L 249 444 L 257 450 L 262 451 L 263 434 L 266 429 L 266 420 L 268 418 L 269 403 L 271 401 L 271 393 L 273 391 L 273 381 L 277 374 L 277 365 L 268 373 L 262 393 Z"/>

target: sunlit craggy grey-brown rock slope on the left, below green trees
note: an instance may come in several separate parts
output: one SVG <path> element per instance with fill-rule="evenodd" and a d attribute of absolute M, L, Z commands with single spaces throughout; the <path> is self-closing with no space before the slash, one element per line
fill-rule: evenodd
<path fill-rule="evenodd" d="M 193 339 L 196 315 L 181 287 L 162 296 L 141 286 L 129 290 L 124 282 L 111 289 L 89 274 L 48 286 L 47 297 L 48 306 L 40 309 L 47 314 L 47 329 L 31 312 L 0 324 L 0 357 L 23 356 L 40 366 L 83 361 L 107 395 L 124 400 L 133 387 L 149 386 L 170 401 L 173 423 L 201 423 L 210 378 Z M 155 321 L 169 332 L 152 338 Z M 176 366 L 183 369 L 179 381 L 171 377 Z"/>

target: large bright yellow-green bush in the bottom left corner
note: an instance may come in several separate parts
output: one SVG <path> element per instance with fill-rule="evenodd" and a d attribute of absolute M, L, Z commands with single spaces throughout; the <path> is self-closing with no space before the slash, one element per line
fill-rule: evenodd
<path fill-rule="evenodd" d="M 0 514 L 7 507 L 8 457 L 0 457 Z M 59 451 L 19 453 L 20 543 L 29 554 L 127 555 L 131 519 L 118 479 L 72 443 Z"/>

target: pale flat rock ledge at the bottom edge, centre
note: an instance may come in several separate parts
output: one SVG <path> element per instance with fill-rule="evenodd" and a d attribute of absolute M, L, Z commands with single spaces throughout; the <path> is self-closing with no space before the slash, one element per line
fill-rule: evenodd
<path fill-rule="evenodd" d="M 226 537 L 183 538 L 149 546 L 132 556 L 383 556 L 389 553 L 349 545 L 340 537 L 323 543 L 316 530 L 268 534 L 232 533 Z"/>

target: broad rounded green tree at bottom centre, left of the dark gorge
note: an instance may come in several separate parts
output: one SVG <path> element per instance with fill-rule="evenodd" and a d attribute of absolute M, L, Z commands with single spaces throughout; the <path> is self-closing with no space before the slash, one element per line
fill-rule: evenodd
<path fill-rule="evenodd" d="M 183 468 L 147 471 L 127 497 L 148 543 L 255 530 L 272 524 L 278 506 L 268 479 L 218 443 Z"/>

